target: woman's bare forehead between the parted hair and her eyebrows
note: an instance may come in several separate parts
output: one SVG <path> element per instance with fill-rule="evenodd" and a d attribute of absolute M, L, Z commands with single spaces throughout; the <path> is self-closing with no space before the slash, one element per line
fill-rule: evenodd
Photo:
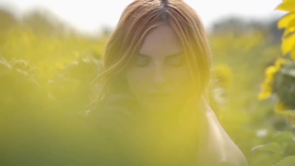
<path fill-rule="evenodd" d="M 139 53 L 151 57 L 165 57 L 181 51 L 177 34 L 169 25 L 161 24 L 146 35 Z"/>

